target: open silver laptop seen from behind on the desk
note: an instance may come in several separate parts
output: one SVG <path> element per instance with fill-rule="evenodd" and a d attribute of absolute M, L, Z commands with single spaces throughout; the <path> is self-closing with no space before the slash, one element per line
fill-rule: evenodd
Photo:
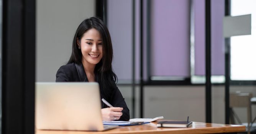
<path fill-rule="evenodd" d="M 96 82 L 36 83 L 36 128 L 104 131 L 99 85 Z"/>

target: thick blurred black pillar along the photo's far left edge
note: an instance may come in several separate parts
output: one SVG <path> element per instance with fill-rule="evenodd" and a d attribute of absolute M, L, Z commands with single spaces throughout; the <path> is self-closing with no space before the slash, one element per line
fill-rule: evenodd
<path fill-rule="evenodd" d="M 2 134 L 34 134 L 35 0 L 4 0 Z"/>

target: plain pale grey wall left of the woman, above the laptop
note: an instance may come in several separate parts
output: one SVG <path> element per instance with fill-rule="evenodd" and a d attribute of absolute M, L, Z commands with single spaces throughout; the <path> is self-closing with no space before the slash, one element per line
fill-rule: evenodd
<path fill-rule="evenodd" d="M 36 1 L 36 81 L 55 82 L 71 56 L 78 25 L 95 16 L 95 0 Z"/>

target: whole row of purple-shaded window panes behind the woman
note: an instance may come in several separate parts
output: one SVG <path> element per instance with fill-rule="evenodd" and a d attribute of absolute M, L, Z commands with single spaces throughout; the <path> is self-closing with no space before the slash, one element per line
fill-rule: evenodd
<path fill-rule="evenodd" d="M 191 77 L 192 83 L 204 83 L 205 0 L 152 0 L 150 2 L 148 6 L 147 1 L 143 0 L 144 81 L 184 81 Z M 108 1 L 107 5 L 107 24 L 115 52 L 113 69 L 118 75 L 119 83 L 131 83 L 132 54 L 135 51 L 135 79 L 138 82 L 141 39 L 140 2 L 135 0 L 135 7 L 133 7 L 131 0 L 112 0 Z M 224 83 L 225 46 L 222 25 L 225 2 L 214 0 L 211 1 L 211 5 L 212 82 Z M 131 41 L 133 9 L 135 10 L 135 50 L 132 49 Z M 117 15 L 120 12 L 122 15 Z M 149 20 L 147 15 L 150 15 Z"/>

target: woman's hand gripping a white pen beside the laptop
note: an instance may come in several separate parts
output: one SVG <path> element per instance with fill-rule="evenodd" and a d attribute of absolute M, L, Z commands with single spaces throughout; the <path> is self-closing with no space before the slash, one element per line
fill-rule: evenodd
<path fill-rule="evenodd" d="M 111 108 L 102 108 L 101 115 L 103 121 L 114 121 L 120 119 L 123 115 L 123 108 L 111 107 Z"/>

